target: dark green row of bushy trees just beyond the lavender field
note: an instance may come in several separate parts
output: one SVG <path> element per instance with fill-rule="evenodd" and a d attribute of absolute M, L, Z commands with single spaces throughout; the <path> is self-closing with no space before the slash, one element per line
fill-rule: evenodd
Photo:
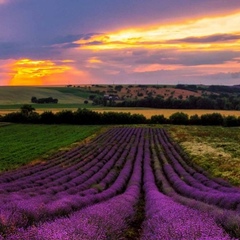
<path fill-rule="evenodd" d="M 197 114 L 189 116 L 183 112 L 176 112 L 169 118 L 164 115 L 154 115 L 147 119 L 142 114 L 121 112 L 98 113 L 86 108 L 76 111 L 63 110 L 57 113 L 45 111 L 41 114 L 35 112 L 31 105 L 24 105 L 20 111 L 0 116 L 1 122 L 38 123 L 38 124 L 179 124 L 179 125 L 218 125 L 226 127 L 240 126 L 240 117 L 223 116 L 220 113 Z"/>

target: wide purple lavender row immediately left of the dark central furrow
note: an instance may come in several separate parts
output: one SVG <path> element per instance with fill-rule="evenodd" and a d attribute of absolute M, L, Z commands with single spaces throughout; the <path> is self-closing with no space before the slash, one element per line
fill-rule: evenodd
<path fill-rule="evenodd" d="M 135 205 L 140 197 L 143 150 L 138 147 L 137 151 L 136 162 L 125 192 L 77 211 L 68 218 L 57 219 L 27 230 L 18 229 L 6 239 L 123 239 L 128 224 L 134 218 Z"/>

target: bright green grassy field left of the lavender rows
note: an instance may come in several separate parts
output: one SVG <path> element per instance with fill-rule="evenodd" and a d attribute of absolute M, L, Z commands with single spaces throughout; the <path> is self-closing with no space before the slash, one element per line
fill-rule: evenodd
<path fill-rule="evenodd" d="M 44 159 L 100 129 L 100 126 L 0 125 L 0 171 Z"/>

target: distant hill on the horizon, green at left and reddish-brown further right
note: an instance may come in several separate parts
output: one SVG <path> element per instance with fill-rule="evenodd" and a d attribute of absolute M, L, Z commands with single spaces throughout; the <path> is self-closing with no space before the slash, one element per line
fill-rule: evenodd
<path fill-rule="evenodd" d="M 140 100 L 149 97 L 185 100 L 191 96 L 240 97 L 240 85 L 82 85 L 59 87 L 0 87 L 0 105 L 27 104 L 31 98 L 58 99 L 59 104 L 82 104 L 96 96 L 117 96 L 119 101 Z M 91 102 L 91 101 L 90 101 Z"/>

